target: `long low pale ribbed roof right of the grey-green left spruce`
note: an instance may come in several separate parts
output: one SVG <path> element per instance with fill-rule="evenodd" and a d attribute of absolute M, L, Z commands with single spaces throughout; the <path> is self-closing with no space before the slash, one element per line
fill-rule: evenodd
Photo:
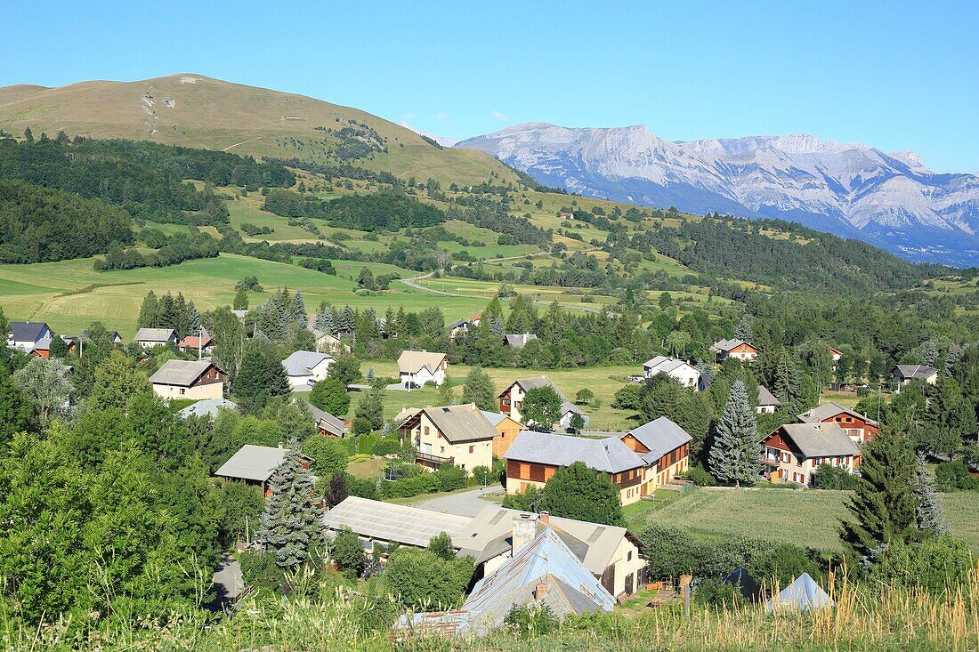
<path fill-rule="evenodd" d="M 469 521 L 465 516 L 351 495 L 324 514 L 322 524 L 329 530 L 347 526 L 360 536 L 425 547 L 443 532 L 455 541 Z"/>

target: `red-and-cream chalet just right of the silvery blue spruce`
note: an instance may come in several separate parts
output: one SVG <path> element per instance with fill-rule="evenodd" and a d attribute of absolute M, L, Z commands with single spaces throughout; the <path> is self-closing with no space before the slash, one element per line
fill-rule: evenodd
<path fill-rule="evenodd" d="M 809 485 L 820 464 L 851 473 L 860 466 L 860 448 L 835 421 L 787 423 L 762 443 L 771 482 Z"/>

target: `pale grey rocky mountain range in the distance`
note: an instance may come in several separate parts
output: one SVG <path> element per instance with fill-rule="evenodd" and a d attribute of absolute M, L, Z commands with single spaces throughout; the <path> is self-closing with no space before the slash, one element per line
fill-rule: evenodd
<path fill-rule="evenodd" d="M 911 260 L 979 265 L 979 176 L 807 134 L 674 142 L 528 122 L 460 141 L 536 181 L 650 207 L 800 222 Z"/>

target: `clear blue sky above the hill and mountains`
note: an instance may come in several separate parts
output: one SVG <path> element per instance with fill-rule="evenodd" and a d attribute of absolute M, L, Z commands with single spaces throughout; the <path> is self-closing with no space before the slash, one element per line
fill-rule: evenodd
<path fill-rule="evenodd" d="M 808 132 L 979 172 L 977 5 L 16 2 L 0 86 L 199 72 L 455 138 Z"/>

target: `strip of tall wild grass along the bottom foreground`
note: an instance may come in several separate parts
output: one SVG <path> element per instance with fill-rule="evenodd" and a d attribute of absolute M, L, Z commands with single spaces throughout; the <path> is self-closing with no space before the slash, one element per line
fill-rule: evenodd
<path fill-rule="evenodd" d="M 165 624 L 108 622 L 85 634 L 69 623 L 32 628 L 0 611 L 2 647 L 10 650 L 975 650 L 979 649 L 979 569 L 944 592 L 830 579 L 835 606 L 811 614 L 766 613 L 764 606 L 694 607 L 690 621 L 673 604 L 639 613 L 568 619 L 546 636 L 497 631 L 484 639 L 409 635 L 387 624 L 391 603 L 322 599 L 249 603 L 233 619 L 206 625 L 196 614 Z M 385 607 L 387 604 L 387 607 Z M 2 609 L 2 607 L 0 607 Z"/>

